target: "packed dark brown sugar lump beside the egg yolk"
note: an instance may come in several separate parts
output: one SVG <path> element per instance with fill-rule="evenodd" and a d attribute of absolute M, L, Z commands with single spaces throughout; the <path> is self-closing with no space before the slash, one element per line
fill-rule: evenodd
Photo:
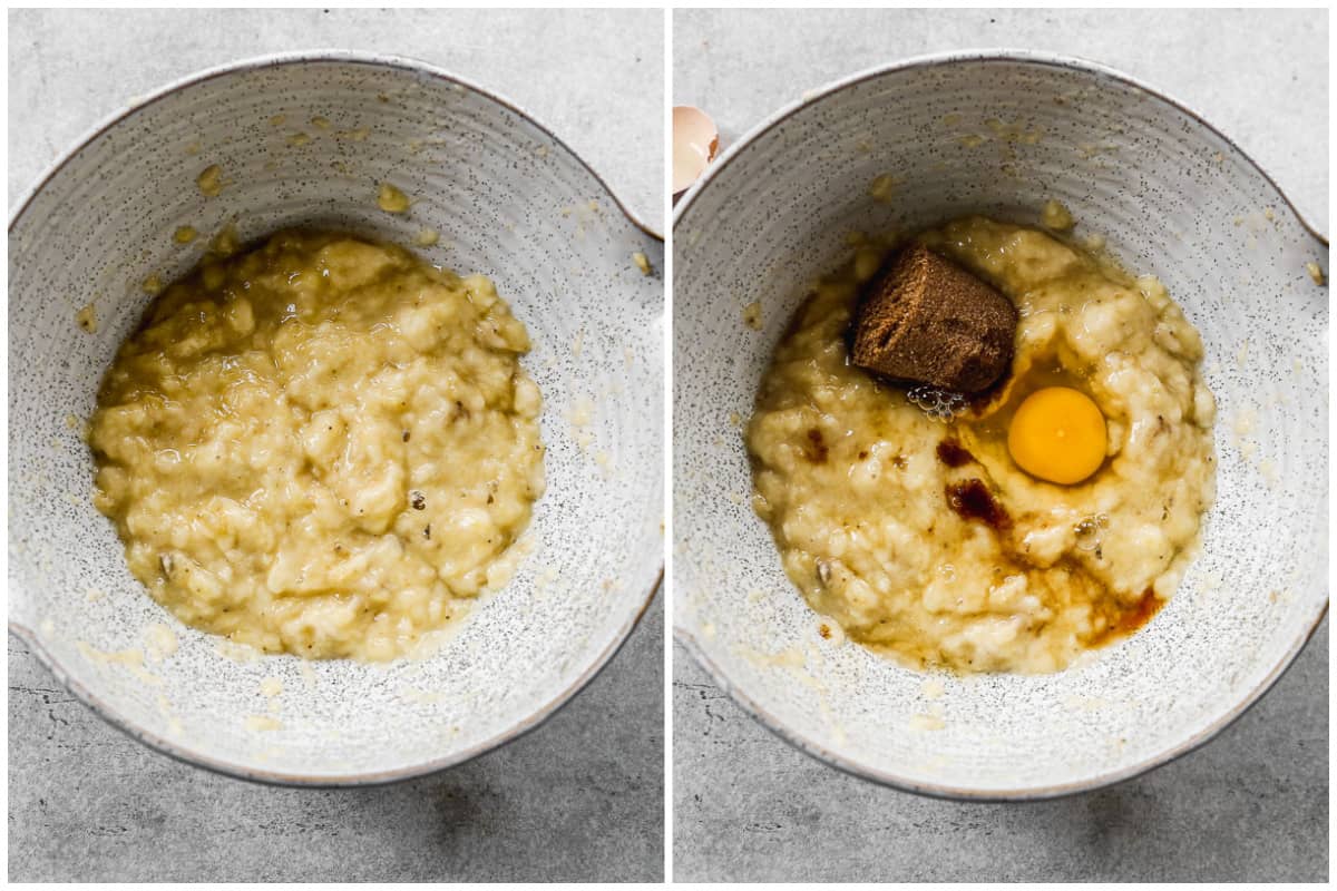
<path fill-rule="evenodd" d="M 920 243 L 873 279 L 854 319 L 854 365 L 898 381 L 979 393 L 1008 370 L 1016 307 Z"/>

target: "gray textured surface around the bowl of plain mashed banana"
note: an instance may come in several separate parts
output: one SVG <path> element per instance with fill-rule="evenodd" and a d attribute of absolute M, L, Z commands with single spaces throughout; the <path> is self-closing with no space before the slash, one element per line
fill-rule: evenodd
<path fill-rule="evenodd" d="M 513 99 L 658 223 L 662 20 L 656 11 L 12 12 L 9 202 L 134 95 L 262 52 L 334 47 L 425 59 Z M 253 785 L 150 752 L 11 637 L 9 878 L 656 880 L 662 613 L 656 598 L 608 668 L 533 733 L 432 777 L 356 791 Z"/>

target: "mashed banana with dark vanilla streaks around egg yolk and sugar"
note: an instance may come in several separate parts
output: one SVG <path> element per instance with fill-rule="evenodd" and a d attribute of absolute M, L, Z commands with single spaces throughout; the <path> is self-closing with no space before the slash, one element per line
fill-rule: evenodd
<path fill-rule="evenodd" d="M 1215 480 L 1202 342 L 1157 279 L 1042 231 L 968 218 L 919 238 L 1017 306 L 1011 375 L 944 421 L 850 365 L 874 274 L 850 263 L 762 381 L 754 505 L 789 577 L 856 641 L 915 667 L 1058 671 L 1136 629 L 1191 560 Z M 1021 399 L 1055 385 L 1107 422 L 1079 485 L 1028 476 L 1007 448 Z"/>

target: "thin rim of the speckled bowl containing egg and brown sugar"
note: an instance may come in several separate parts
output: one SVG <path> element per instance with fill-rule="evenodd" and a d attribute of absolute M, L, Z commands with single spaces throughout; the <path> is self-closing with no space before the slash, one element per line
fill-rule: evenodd
<path fill-rule="evenodd" d="M 1210 134 L 1221 139 L 1226 146 L 1233 150 L 1239 158 L 1242 158 L 1249 166 L 1251 166 L 1258 175 L 1266 180 L 1266 183 L 1277 192 L 1280 199 L 1294 215 L 1300 226 L 1309 232 L 1317 242 L 1324 247 L 1328 247 L 1328 236 L 1316 230 L 1313 226 L 1305 220 L 1300 210 L 1292 203 L 1290 198 L 1282 191 L 1277 182 L 1267 174 L 1262 166 L 1258 164 L 1243 148 L 1241 148 L 1233 139 L 1221 132 L 1214 127 L 1206 118 L 1199 112 L 1194 111 L 1190 106 L 1179 102 L 1165 91 L 1158 90 L 1131 75 L 1123 73 L 1115 68 L 1111 68 L 1099 61 L 1092 61 L 1088 59 L 1082 59 L 1079 56 L 1070 56 L 1054 52 L 1042 52 L 1031 49 L 953 49 L 948 52 L 933 52 L 919 56 L 910 56 L 900 61 L 893 61 L 889 64 L 874 65 L 872 68 L 865 68 L 856 73 L 848 75 L 833 80 L 817 90 L 804 94 L 798 100 L 790 102 L 781 107 L 778 111 L 771 112 L 761 123 L 751 127 L 742 136 L 739 136 L 710 167 L 706 168 L 705 175 L 698 179 L 693 187 L 682 196 L 678 204 L 674 207 L 673 214 L 673 230 L 677 232 L 678 224 L 686 216 L 687 211 L 695 203 L 697 198 L 709 188 L 710 183 L 723 171 L 730 162 L 734 160 L 742 151 L 746 151 L 751 143 L 758 138 L 763 136 L 771 131 L 778 124 L 783 123 L 786 119 L 797 114 L 798 111 L 806 108 L 808 106 L 821 102 L 822 99 L 832 96 L 848 87 L 861 84 L 868 80 L 881 77 L 884 75 L 900 73 L 906 71 L 916 71 L 921 68 L 935 68 L 940 65 L 952 65 L 960 63 L 1023 63 L 1046 68 L 1064 68 L 1070 71 L 1078 71 L 1084 75 L 1092 76 L 1100 81 L 1114 81 L 1115 84 L 1131 87 L 1140 91 L 1152 99 L 1157 99 L 1179 112 L 1187 115 L 1195 120 L 1199 126 L 1206 128 Z M 675 242 L 677 243 L 677 242 Z M 1198 749 L 1199 747 L 1209 743 L 1218 733 L 1225 731 L 1227 727 L 1234 724 L 1239 717 L 1245 715 L 1254 704 L 1258 703 L 1262 696 L 1270 691 L 1282 675 L 1294 664 L 1296 657 L 1305 648 L 1305 645 L 1313 639 L 1318 627 L 1322 624 L 1324 617 L 1328 614 L 1329 597 L 1324 597 L 1313 620 L 1304 628 L 1297 639 L 1281 653 L 1281 657 L 1275 664 L 1267 671 L 1267 673 L 1259 680 L 1259 683 L 1249 691 L 1234 707 L 1222 713 L 1219 717 L 1213 720 L 1207 727 L 1202 728 L 1197 733 L 1191 735 L 1189 739 L 1169 747 L 1163 752 L 1146 757 L 1131 765 L 1116 768 L 1112 771 L 1106 771 L 1096 773 L 1090 779 L 1076 780 L 1072 783 L 1062 783 L 1054 785 L 1036 785 L 1015 789 L 975 789 L 961 785 L 949 785 L 940 783 L 923 783 L 919 780 L 912 780 L 897 773 L 869 767 L 860 763 L 858 760 L 845 757 L 833 752 L 829 747 L 804 736 L 802 733 L 789 728 L 781 720 L 766 712 L 755 700 L 738 689 L 738 687 L 721 671 L 709 656 L 706 656 L 705 648 L 691 629 L 679 624 L 678 616 L 674 616 L 674 640 L 682 644 L 697 664 L 710 676 L 717 687 L 726 691 L 729 696 L 738 704 L 745 712 L 747 712 L 754 720 L 757 720 L 762 727 L 773 732 L 779 739 L 785 740 L 798 751 L 805 755 L 817 759 L 818 761 L 834 767 L 836 769 L 849 773 L 852 776 L 870 780 L 880 785 L 900 789 L 902 792 L 913 792 L 916 795 L 923 795 L 927 797 L 937 797 L 947 800 L 959 801 L 1036 801 L 1047 799 L 1058 799 L 1068 795 L 1078 795 L 1082 792 L 1091 792 L 1124 780 L 1131 780 L 1140 776 L 1148 771 L 1158 767 L 1169 764 L 1178 760 L 1179 757 Z"/>

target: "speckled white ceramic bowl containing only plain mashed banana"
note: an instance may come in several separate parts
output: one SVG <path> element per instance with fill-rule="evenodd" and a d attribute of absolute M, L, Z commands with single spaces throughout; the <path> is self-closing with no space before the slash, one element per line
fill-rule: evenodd
<path fill-rule="evenodd" d="M 211 164 L 229 183 L 217 198 L 195 184 Z M 377 207 L 382 180 L 413 199 L 410 212 Z M 92 462 L 75 427 L 144 309 L 140 283 L 185 273 L 229 222 L 243 239 L 329 224 L 410 246 L 435 228 L 440 243 L 420 252 L 489 275 L 528 326 L 548 489 L 513 581 L 431 659 L 227 652 L 143 592 L 90 502 Z M 187 224 L 202 238 L 176 244 Z M 115 115 L 9 224 L 11 631 L 132 736 L 253 779 L 394 780 L 535 727 L 616 652 L 660 574 L 660 244 L 556 136 L 416 61 L 267 57 Z M 94 334 L 75 323 L 88 303 Z M 580 401 L 594 410 L 578 429 Z M 159 624 L 179 641 L 163 659 Z"/>

